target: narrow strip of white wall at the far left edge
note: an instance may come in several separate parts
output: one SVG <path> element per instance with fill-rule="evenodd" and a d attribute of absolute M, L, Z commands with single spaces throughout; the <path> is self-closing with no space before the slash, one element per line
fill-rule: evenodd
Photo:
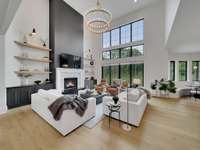
<path fill-rule="evenodd" d="M 6 112 L 4 36 L 0 35 L 0 114 Z"/>

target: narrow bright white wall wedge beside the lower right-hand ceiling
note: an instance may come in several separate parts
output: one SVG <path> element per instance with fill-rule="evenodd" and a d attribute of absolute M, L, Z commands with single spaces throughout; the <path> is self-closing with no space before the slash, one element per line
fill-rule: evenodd
<path fill-rule="evenodd" d="M 165 43 L 167 43 L 181 0 L 166 0 L 165 4 Z"/>

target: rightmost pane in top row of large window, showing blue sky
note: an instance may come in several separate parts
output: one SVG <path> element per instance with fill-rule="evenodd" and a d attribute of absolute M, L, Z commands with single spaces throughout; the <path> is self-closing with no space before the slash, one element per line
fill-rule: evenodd
<path fill-rule="evenodd" d="M 144 40 L 144 20 L 132 23 L 132 42 Z"/>

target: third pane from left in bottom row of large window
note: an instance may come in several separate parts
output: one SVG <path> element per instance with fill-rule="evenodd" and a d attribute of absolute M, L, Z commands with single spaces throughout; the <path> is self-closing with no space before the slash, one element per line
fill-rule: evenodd
<path fill-rule="evenodd" d="M 130 83 L 130 65 L 120 66 L 120 77 L 121 79 L 128 81 L 128 83 Z"/>

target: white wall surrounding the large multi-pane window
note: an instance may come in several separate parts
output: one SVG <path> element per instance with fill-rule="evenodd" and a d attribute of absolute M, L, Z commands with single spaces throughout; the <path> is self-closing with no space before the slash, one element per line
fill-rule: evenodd
<path fill-rule="evenodd" d="M 150 83 L 155 79 L 167 78 L 168 73 L 168 52 L 165 50 L 165 3 L 154 3 L 140 11 L 132 12 L 126 16 L 118 18 L 112 22 L 112 27 L 119 27 L 138 19 L 144 18 L 144 64 L 145 64 L 145 86 L 150 87 Z M 95 54 L 99 55 L 97 64 L 105 64 L 101 61 L 102 55 L 102 36 L 94 39 L 87 39 L 87 47 L 95 45 Z M 100 38 L 100 39 L 99 39 Z M 94 44 L 95 43 L 95 44 Z M 90 45 L 90 46 L 89 46 Z M 97 47 L 100 46 L 100 47 Z M 101 51 L 101 52 L 99 52 Z M 131 58 L 123 62 L 137 62 L 137 59 Z M 115 63 L 121 63 L 118 61 Z M 96 70 L 97 78 L 101 78 L 100 65 Z"/>

